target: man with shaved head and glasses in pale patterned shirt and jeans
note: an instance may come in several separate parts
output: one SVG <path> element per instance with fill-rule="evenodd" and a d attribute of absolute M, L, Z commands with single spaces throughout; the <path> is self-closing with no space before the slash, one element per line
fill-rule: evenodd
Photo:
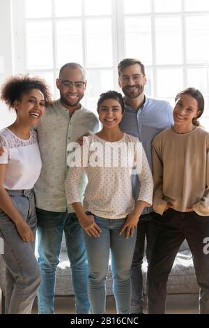
<path fill-rule="evenodd" d="M 86 89 L 84 68 L 65 64 L 56 79 L 60 98 L 45 108 L 37 126 L 42 170 L 35 186 L 38 217 L 38 263 L 41 283 L 38 289 L 38 313 L 54 313 L 56 267 L 63 232 L 72 270 L 76 313 L 90 313 L 88 267 L 82 227 L 72 207 L 67 207 L 65 177 L 68 173 L 68 144 L 86 133 L 98 131 L 98 119 L 80 103 Z M 86 187 L 85 176 L 80 194 Z"/>

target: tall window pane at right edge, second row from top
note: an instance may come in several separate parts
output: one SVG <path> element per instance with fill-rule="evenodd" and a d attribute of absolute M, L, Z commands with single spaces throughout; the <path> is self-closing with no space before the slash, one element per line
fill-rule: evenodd
<path fill-rule="evenodd" d="M 208 64 L 209 15 L 186 18 L 186 40 L 187 61 Z"/>

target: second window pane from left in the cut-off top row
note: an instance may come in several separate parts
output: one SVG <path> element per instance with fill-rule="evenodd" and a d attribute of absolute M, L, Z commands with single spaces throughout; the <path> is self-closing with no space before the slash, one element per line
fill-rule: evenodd
<path fill-rule="evenodd" d="M 79 16 L 82 15 L 81 0 L 55 0 L 56 16 Z"/>

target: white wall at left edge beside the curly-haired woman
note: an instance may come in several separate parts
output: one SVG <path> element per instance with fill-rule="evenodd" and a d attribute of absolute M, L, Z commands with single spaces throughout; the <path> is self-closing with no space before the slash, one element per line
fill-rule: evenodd
<path fill-rule="evenodd" d="M 0 84 L 13 74 L 11 1 L 0 0 Z M 0 101 L 0 129 L 11 124 L 15 116 Z"/>

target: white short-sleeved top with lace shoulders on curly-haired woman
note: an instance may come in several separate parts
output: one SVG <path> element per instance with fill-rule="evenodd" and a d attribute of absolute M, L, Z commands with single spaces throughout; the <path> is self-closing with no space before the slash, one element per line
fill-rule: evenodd
<path fill-rule="evenodd" d="M 3 187 L 9 190 L 33 188 L 41 169 L 36 131 L 31 130 L 29 140 L 22 140 L 5 128 L 0 131 L 0 146 L 4 151 L 0 164 L 7 164 Z"/>

